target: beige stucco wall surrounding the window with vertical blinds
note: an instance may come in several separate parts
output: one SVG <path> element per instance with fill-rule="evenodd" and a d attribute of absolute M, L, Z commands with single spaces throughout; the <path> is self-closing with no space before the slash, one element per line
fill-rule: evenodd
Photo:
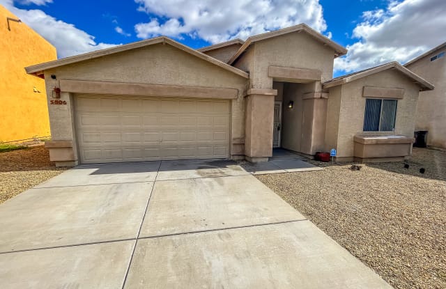
<path fill-rule="evenodd" d="M 363 86 L 403 88 L 403 99 L 398 100 L 395 132 L 363 132 L 366 97 L 362 97 Z M 353 157 L 355 134 L 401 134 L 413 137 L 415 130 L 415 111 L 419 86 L 411 79 L 394 70 L 385 70 L 369 77 L 357 79 L 342 85 L 337 136 L 337 157 Z M 329 99 L 332 97 L 330 89 Z M 330 105 L 329 101 L 329 105 Z M 330 109 L 331 110 L 331 109 Z M 333 116 L 335 112 L 331 113 Z M 335 116 L 334 116 L 335 117 Z M 332 121 L 328 118 L 327 122 Z M 329 127 L 329 125 L 328 125 Z M 331 127 L 331 125 L 330 125 Z M 332 139 L 330 140 L 332 141 Z M 329 149 L 329 148 L 328 148 Z"/>

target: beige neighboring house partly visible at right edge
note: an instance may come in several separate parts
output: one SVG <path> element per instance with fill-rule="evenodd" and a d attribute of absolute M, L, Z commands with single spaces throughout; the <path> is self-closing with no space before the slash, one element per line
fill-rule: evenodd
<path fill-rule="evenodd" d="M 446 42 L 404 66 L 435 85 L 420 93 L 415 130 L 428 131 L 427 145 L 446 148 Z"/>

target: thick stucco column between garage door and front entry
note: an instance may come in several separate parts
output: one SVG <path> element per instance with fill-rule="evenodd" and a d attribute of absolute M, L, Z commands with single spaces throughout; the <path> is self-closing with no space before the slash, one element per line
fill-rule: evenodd
<path fill-rule="evenodd" d="M 272 156 L 272 126 L 276 89 L 252 88 L 245 97 L 245 157 L 267 162 Z"/>

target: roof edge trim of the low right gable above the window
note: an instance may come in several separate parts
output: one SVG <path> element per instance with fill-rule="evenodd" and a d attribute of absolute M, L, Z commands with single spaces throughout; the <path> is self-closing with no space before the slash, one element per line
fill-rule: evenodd
<path fill-rule="evenodd" d="M 357 79 L 361 79 L 362 77 L 367 77 L 369 75 L 374 75 L 375 73 L 388 69 L 398 70 L 399 72 L 403 73 L 403 75 L 406 75 L 406 77 L 413 79 L 413 81 L 422 88 L 422 91 L 431 91 L 434 88 L 433 84 L 431 84 L 429 81 L 426 81 L 426 79 L 423 79 L 422 77 L 411 72 L 410 70 L 405 68 L 403 65 L 397 63 L 396 61 L 385 63 L 383 65 L 378 65 L 375 66 L 374 68 L 368 68 L 365 70 L 353 72 L 351 74 L 343 75 L 341 77 L 336 77 L 334 79 L 330 79 L 329 81 L 325 81 L 323 83 L 323 88 L 330 88 L 333 86 L 346 84 L 348 82 L 355 81 Z"/>

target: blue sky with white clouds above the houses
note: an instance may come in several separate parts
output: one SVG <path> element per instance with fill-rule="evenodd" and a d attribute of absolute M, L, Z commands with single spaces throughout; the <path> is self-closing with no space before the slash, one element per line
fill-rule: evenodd
<path fill-rule="evenodd" d="M 446 42 L 446 0 L 0 0 L 63 58 L 155 36 L 192 48 L 305 23 L 348 49 L 334 77 Z"/>

